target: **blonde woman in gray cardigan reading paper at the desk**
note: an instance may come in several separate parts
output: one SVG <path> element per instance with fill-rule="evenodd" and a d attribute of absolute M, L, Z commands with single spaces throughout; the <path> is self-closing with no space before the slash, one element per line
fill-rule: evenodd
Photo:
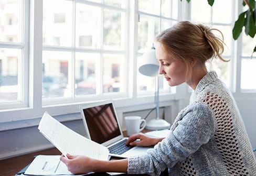
<path fill-rule="evenodd" d="M 68 169 L 159 175 L 169 168 L 169 175 L 256 175 L 255 157 L 236 102 L 216 72 L 206 69 L 210 59 L 226 62 L 221 57 L 223 42 L 213 30 L 219 31 L 180 21 L 156 37 L 159 74 L 170 86 L 185 82 L 194 90 L 165 139 L 135 134 L 127 145 L 155 147 L 147 155 L 122 160 L 61 156 Z"/>

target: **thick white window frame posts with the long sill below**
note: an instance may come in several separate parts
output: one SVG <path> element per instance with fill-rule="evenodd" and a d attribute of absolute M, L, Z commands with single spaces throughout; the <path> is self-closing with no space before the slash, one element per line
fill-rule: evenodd
<path fill-rule="evenodd" d="M 77 114 L 79 113 L 79 106 L 81 104 L 90 103 L 92 101 L 100 101 L 103 99 L 113 99 L 115 106 L 118 111 L 129 112 L 129 111 L 138 111 L 142 109 L 151 109 L 154 108 L 154 94 L 144 97 L 137 97 L 136 93 L 136 72 L 137 70 L 137 0 L 128 1 L 130 2 L 128 6 L 129 12 L 127 15 L 130 16 L 130 20 L 127 21 L 127 26 L 129 26 L 129 38 L 127 43 L 127 72 L 129 71 L 130 75 L 126 75 L 127 82 L 127 94 L 125 96 L 109 96 L 91 98 L 90 100 L 84 99 L 84 102 L 68 102 L 62 101 L 62 104 L 47 105 L 42 103 L 42 87 L 41 87 L 41 78 L 42 78 L 42 1 L 43 0 L 25 0 L 28 2 L 30 7 L 30 17 L 29 17 L 29 53 L 27 55 L 29 61 L 29 71 L 25 74 L 29 75 L 29 86 L 27 93 L 25 92 L 24 96 L 28 97 L 28 103 L 22 108 L 12 108 L 5 109 L 0 111 L 0 131 L 13 128 L 22 128 L 27 126 L 38 125 L 38 120 L 42 114 L 47 111 L 51 115 L 67 115 L 66 118 L 63 117 L 63 120 L 70 119 L 80 119 L 80 116 L 70 116 L 68 114 Z M 181 9 L 180 3 L 179 8 Z M 26 10 L 28 11 L 28 10 Z M 28 14 L 27 14 L 28 15 Z M 28 31 L 28 30 L 26 30 Z M 134 45 L 135 43 L 135 45 Z M 180 89 L 182 90 L 182 89 Z M 183 92 L 177 91 L 176 94 L 161 94 L 159 97 L 160 106 L 170 106 L 172 105 L 176 98 L 179 97 L 179 94 Z M 11 107 L 11 106 L 9 106 Z M 13 106 L 12 106 L 13 107 Z"/>

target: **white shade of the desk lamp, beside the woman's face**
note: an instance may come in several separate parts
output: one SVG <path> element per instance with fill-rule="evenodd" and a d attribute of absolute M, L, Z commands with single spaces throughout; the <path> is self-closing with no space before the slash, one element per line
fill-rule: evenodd
<path fill-rule="evenodd" d="M 141 64 L 139 64 L 138 71 L 145 75 L 155 77 L 158 76 L 159 63 L 156 59 L 155 49 L 150 49 L 142 55 Z"/>

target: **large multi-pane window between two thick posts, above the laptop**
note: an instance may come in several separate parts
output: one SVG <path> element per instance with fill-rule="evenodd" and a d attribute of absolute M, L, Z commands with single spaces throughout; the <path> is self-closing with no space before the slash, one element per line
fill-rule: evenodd
<path fill-rule="evenodd" d="M 124 93 L 127 2 L 43 3 L 43 104 L 50 98 L 76 101 L 86 95 Z M 59 4 L 62 8 L 53 8 Z M 52 81 L 44 82 L 48 78 Z"/>

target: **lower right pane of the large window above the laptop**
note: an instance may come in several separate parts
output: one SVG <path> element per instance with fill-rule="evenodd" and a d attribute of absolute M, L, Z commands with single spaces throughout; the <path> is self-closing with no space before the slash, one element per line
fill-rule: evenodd
<path fill-rule="evenodd" d="M 104 54 L 103 59 L 103 93 L 123 92 L 123 56 Z"/>

